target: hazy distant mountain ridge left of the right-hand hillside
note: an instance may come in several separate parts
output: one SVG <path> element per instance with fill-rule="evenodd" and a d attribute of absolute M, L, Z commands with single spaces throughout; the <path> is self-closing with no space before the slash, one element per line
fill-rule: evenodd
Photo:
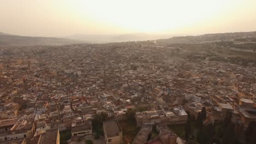
<path fill-rule="evenodd" d="M 0 46 L 13 45 L 65 45 L 82 43 L 113 43 L 168 38 L 166 35 L 134 34 L 75 34 L 67 37 L 27 37 L 0 32 Z"/>

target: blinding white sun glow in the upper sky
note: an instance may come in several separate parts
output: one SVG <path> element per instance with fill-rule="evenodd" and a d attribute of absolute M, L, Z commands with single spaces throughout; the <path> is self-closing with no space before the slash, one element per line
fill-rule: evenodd
<path fill-rule="evenodd" d="M 158 33 L 174 31 L 222 13 L 231 1 L 84 1 L 93 19 L 129 29 Z"/>

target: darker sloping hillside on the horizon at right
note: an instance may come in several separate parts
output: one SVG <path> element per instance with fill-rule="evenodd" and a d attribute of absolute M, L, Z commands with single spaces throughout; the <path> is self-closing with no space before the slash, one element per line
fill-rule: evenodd
<path fill-rule="evenodd" d="M 173 44 L 173 43 L 202 43 L 220 40 L 232 40 L 243 37 L 256 37 L 256 32 L 236 32 L 236 33 L 214 33 L 203 34 L 197 36 L 172 37 L 168 39 L 158 39 L 158 43 Z"/>

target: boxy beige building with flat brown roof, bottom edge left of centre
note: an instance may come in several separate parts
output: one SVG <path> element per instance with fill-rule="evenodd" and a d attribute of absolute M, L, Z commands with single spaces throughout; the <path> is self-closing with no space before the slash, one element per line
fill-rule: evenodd
<path fill-rule="evenodd" d="M 103 130 L 107 144 L 123 143 L 123 131 L 117 119 L 103 122 Z"/>

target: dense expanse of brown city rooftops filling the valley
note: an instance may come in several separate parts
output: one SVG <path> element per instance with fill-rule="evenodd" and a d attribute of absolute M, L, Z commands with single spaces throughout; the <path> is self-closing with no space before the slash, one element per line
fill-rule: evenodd
<path fill-rule="evenodd" d="M 0 142 L 113 133 L 132 143 L 148 127 L 156 137 L 144 142 L 184 142 L 177 127 L 197 121 L 191 117 L 203 116 L 207 127 L 225 122 L 228 113 L 230 123 L 247 129 L 256 121 L 256 68 L 216 59 L 207 47 L 185 46 L 132 41 L 2 49 Z M 110 122 L 118 127 L 109 131 Z M 111 137 L 103 141 L 115 141 Z"/>

